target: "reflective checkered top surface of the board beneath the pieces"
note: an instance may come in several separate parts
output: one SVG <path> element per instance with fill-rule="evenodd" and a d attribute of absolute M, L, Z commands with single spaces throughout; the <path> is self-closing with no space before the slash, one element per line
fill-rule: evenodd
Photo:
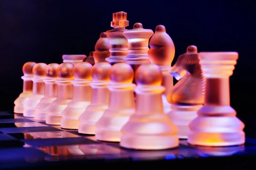
<path fill-rule="evenodd" d="M 19 162 L 72 161 L 72 160 L 170 160 L 214 156 L 255 154 L 256 140 L 246 139 L 243 146 L 192 147 L 180 140 L 176 149 L 142 151 L 127 150 L 119 143 L 99 142 L 95 136 L 79 134 L 77 130 L 47 125 L 22 114 L 0 112 L 0 167 Z"/>

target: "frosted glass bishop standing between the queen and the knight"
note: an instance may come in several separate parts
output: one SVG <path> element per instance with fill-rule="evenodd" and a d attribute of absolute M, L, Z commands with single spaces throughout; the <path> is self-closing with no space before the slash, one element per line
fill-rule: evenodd
<path fill-rule="evenodd" d="M 169 74 L 169 70 L 172 68 L 175 46 L 172 38 L 166 33 L 165 26 L 159 25 L 156 27 L 156 31 L 149 41 L 149 46 L 149 60 L 151 64 L 158 65 L 163 74 L 162 85 L 166 88 L 162 94 L 163 112 L 167 114 L 171 111 L 166 96 L 173 88 L 173 77 Z"/>

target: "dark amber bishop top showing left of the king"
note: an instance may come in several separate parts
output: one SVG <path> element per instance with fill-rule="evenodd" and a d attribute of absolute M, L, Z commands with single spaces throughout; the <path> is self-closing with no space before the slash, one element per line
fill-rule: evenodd
<path fill-rule="evenodd" d="M 96 42 L 95 51 L 93 52 L 93 58 L 95 63 L 107 62 L 106 58 L 110 57 L 110 42 L 107 34 L 102 32 L 99 36 L 99 40 Z"/>

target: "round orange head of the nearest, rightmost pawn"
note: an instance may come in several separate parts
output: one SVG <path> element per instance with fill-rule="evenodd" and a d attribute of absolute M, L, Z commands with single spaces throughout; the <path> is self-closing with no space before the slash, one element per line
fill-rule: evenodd
<path fill-rule="evenodd" d="M 161 85 L 163 75 L 158 65 L 143 64 L 137 68 L 135 80 L 137 85 Z"/>

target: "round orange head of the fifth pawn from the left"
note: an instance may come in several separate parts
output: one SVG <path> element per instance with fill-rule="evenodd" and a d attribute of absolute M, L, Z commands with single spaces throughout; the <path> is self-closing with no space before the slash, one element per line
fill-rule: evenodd
<path fill-rule="evenodd" d="M 73 68 L 73 75 L 75 79 L 92 79 L 91 69 L 92 65 L 89 62 L 79 62 Z"/>

